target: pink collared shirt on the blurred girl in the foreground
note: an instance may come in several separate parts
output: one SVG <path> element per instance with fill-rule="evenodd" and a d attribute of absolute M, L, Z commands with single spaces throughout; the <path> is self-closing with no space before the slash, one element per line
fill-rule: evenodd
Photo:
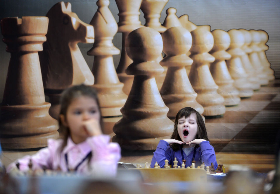
<path fill-rule="evenodd" d="M 67 172 L 68 169 L 75 169 L 77 173 L 97 176 L 115 176 L 117 173 L 117 162 L 121 158 L 120 145 L 110 142 L 109 135 L 97 135 L 87 138 L 86 141 L 75 144 L 69 137 L 67 145 L 61 152 L 62 139 L 49 139 L 48 147 L 42 148 L 36 154 L 26 155 L 18 159 L 20 171 L 29 170 L 28 163 L 32 159 L 32 170 L 46 169 Z M 90 162 L 87 154 L 92 152 Z M 67 155 L 67 161 L 65 159 Z M 86 158 L 83 162 L 82 160 Z M 82 162 L 82 163 L 81 163 Z M 81 163 L 81 164 L 80 164 Z M 11 163 L 7 172 L 11 171 L 16 162 Z"/>

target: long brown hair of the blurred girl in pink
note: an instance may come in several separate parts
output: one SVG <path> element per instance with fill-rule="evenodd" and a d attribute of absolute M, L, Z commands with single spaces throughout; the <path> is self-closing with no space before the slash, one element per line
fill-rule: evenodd
<path fill-rule="evenodd" d="M 87 96 L 87 97 L 91 97 L 92 99 L 95 99 L 96 103 L 98 105 L 98 111 L 101 114 L 100 104 L 98 101 L 96 90 L 92 86 L 81 84 L 81 85 L 71 86 L 63 91 L 61 98 L 60 98 L 59 115 L 64 115 L 64 118 L 66 118 L 66 113 L 67 113 L 69 105 L 72 103 L 72 101 L 74 99 L 81 97 L 81 96 Z M 63 148 L 67 144 L 67 139 L 70 135 L 70 130 L 68 127 L 65 127 L 62 124 L 60 116 L 58 118 L 58 122 L 59 122 L 59 131 L 63 134 L 63 143 L 61 145 L 61 151 L 62 151 Z M 103 129 L 102 116 L 100 116 L 100 126 L 101 126 L 101 129 Z"/>

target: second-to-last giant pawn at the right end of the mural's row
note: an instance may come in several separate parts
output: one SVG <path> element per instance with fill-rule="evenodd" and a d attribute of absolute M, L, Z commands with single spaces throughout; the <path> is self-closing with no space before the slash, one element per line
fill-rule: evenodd
<path fill-rule="evenodd" d="M 259 78 L 260 85 L 264 86 L 268 84 L 269 79 L 267 78 L 267 74 L 264 71 L 264 67 L 258 55 L 258 53 L 262 51 L 262 48 L 259 46 L 261 42 L 261 37 L 260 34 L 257 32 L 257 30 L 249 30 L 249 32 L 251 33 L 251 37 L 252 37 L 250 48 L 253 50 L 253 52 L 249 54 L 249 59 L 253 67 L 255 68 L 255 73 L 256 76 Z"/>

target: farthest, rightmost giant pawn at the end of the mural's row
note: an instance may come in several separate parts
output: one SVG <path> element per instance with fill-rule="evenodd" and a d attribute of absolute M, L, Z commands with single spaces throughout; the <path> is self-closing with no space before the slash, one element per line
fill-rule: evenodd
<path fill-rule="evenodd" d="M 271 63 L 269 63 L 267 56 L 265 54 L 265 51 L 269 49 L 269 46 L 267 46 L 266 44 L 268 41 L 268 34 L 265 30 L 257 30 L 257 32 L 260 35 L 259 47 L 261 48 L 261 51 L 258 52 L 258 55 L 262 63 L 262 66 L 264 67 L 264 72 L 267 74 L 268 80 L 272 81 L 275 79 L 274 70 L 270 67 Z"/>

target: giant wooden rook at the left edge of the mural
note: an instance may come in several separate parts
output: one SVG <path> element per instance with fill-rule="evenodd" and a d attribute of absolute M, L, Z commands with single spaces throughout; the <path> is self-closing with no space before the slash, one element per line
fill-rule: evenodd
<path fill-rule="evenodd" d="M 0 141 L 6 149 L 45 147 L 58 138 L 57 121 L 45 102 L 38 51 L 46 41 L 47 17 L 3 18 L 6 51 L 11 53 L 0 106 Z"/>

